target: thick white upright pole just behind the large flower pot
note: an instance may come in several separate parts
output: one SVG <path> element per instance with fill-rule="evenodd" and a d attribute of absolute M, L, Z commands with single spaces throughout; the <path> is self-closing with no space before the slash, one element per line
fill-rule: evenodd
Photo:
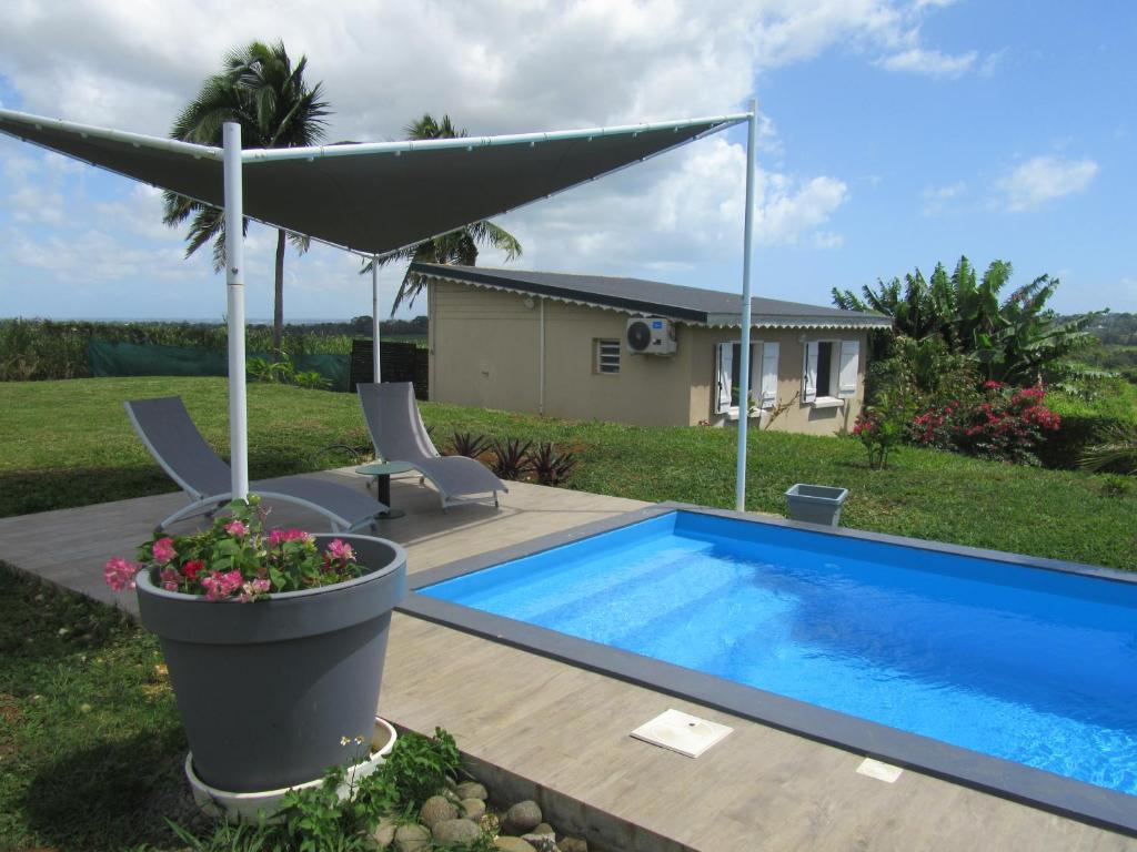
<path fill-rule="evenodd" d="M 229 452 L 233 496 L 249 494 L 248 409 L 244 399 L 244 210 L 241 190 L 241 125 L 226 122 L 225 283 L 229 298 Z"/>

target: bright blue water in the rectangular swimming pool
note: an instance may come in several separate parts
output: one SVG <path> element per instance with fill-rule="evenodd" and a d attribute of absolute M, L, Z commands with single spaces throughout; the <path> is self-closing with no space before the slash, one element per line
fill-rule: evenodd
<path fill-rule="evenodd" d="M 1137 584 L 680 511 L 420 593 L 1137 794 Z"/>

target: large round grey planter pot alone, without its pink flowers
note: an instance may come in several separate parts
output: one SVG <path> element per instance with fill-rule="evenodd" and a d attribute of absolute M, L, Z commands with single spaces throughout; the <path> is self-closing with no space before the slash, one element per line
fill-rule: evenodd
<path fill-rule="evenodd" d="M 349 543 L 373 568 L 347 583 L 238 603 L 167 592 L 138 577 L 142 624 L 158 635 L 193 752 L 211 787 L 276 790 L 358 760 L 370 742 L 391 609 L 406 590 L 407 554 L 395 542 Z"/>

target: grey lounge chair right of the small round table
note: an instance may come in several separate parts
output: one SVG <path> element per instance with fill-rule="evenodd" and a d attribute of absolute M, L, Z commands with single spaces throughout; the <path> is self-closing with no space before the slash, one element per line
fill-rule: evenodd
<path fill-rule="evenodd" d="M 385 461 L 405 461 L 430 479 L 443 509 L 489 495 L 497 506 L 497 493 L 509 491 L 480 461 L 439 454 L 423 426 L 409 382 L 359 383 L 357 390 L 375 453 Z"/>

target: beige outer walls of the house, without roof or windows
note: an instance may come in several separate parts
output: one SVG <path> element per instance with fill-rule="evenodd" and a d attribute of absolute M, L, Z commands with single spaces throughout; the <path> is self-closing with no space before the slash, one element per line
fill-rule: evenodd
<path fill-rule="evenodd" d="M 431 281 L 428 285 L 430 398 L 438 402 L 541 412 L 542 300 L 520 293 Z M 529 307 L 532 306 L 532 307 Z M 737 341 L 737 329 L 677 324 L 677 354 L 631 354 L 624 344 L 628 315 L 543 300 L 543 414 L 570 419 L 644 426 L 725 425 L 713 414 L 715 344 Z M 779 402 L 802 385 L 802 332 L 763 332 L 777 340 Z M 772 428 L 833 434 L 852 426 L 863 395 L 865 334 L 806 334 L 805 340 L 860 340 L 857 395 L 840 408 L 795 401 Z M 596 342 L 620 341 L 620 373 L 599 373 Z"/>

